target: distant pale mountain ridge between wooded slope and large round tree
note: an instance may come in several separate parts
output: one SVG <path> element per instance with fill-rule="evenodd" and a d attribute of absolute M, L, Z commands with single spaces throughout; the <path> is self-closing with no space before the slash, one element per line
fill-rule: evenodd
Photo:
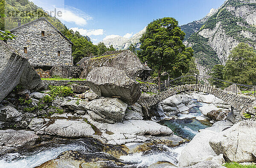
<path fill-rule="evenodd" d="M 113 48 L 116 50 L 126 50 L 130 47 L 131 44 L 136 44 L 136 48 L 140 48 L 140 37 L 142 34 L 146 31 L 146 28 L 143 28 L 143 30 L 139 31 L 137 34 L 134 34 L 130 39 L 124 38 L 122 36 L 113 38 L 113 39 L 106 39 L 102 42 L 107 46 L 113 45 Z"/>

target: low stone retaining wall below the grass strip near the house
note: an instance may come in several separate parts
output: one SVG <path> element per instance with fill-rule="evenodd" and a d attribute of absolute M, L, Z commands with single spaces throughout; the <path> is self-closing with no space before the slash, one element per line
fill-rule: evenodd
<path fill-rule="evenodd" d="M 78 84 L 81 86 L 88 86 L 87 81 L 42 81 L 36 87 L 36 91 L 47 90 L 49 86 L 67 86 L 69 84 Z"/>

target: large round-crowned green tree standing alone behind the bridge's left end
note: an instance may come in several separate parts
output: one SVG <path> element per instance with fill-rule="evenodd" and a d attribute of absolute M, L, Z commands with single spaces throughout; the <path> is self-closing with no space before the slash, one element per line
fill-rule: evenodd
<path fill-rule="evenodd" d="M 138 56 L 157 72 L 158 85 L 161 84 L 160 77 L 164 71 L 172 78 L 188 72 L 193 50 L 183 45 L 184 36 L 177 20 L 164 17 L 149 23 L 140 38 L 141 50 L 138 51 Z"/>

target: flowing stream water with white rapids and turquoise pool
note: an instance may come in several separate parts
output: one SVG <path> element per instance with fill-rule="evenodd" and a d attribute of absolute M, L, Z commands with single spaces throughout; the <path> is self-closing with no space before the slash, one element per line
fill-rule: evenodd
<path fill-rule="evenodd" d="M 189 114 L 178 115 L 177 120 L 164 120 L 160 124 L 166 125 L 172 131 L 183 138 L 191 140 L 199 129 L 204 129 L 209 125 L 204 125 L 195 117 L 200 116 L 199 107 L 204 104 L 196 102 L 195 106 L 189 109 Z M 177 147 L 168 147 L 165 145 L 157 145 L 156 148 L 147 152 L 138 152 L 121 156 L 123 162 L 132 163 L 128 167 L 147 168 L 149 165 L 158 161 L 168 161 L 177 165 L 177 160 L 181 151 L 185 148 L 186 143 Z M 6 154 L 0 157 L 0 168 L 34 168 L 42 163 L 55 159 L 64 151 L 73 150 L 83 153 L 93 153 L 101 151 L 101 145 L 93 142 L 92 139 L 73 140 L 69 143 L 51 143 L 51 145 L 40 146 L 35 151 L 23 151 L 20 153 Z"/>

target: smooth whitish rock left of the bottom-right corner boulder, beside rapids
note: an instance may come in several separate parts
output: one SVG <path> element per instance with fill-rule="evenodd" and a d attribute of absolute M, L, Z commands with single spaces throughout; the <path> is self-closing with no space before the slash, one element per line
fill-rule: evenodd
<path fill-rule="evenodd" d="M 211 155 L 217 156 L 209 145 L 209 140 L 217 133 L 204 130 L 195 135 L 189 144 L 181 151 L 179 166 L 187 167 L 195 164 L 195 160 Z"/>

